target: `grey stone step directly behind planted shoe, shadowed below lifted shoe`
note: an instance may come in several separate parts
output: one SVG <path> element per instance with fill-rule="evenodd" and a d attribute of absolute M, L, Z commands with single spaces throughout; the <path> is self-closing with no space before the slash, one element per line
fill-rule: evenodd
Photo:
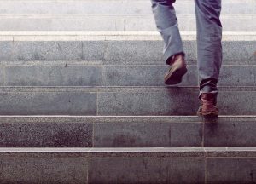
<path fill-rule="evenodd" d="M 220 87 L 222 115 L 256 114 L 256 88 Z M 1 87 L 1 115 L 195 115 L 198 87 Z M 189 106 L 188 106 L 189 105 Z"/>

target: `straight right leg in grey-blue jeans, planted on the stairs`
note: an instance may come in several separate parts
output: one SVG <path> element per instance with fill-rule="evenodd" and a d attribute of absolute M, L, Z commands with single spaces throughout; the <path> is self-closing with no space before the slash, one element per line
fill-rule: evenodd
<path fill-rule="evenodd" d="M 217 83 L 222 63 L 220 11 L 221 0 L 195 0 L 197 63 L 201 79 L 199 98 L 212 101 L 214 106 L 208 110 L 216 113 Z"/>

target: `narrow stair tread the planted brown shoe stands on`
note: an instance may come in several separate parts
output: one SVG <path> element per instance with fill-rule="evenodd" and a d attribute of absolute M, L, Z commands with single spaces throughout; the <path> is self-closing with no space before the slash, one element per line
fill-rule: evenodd
<path fill-rule="evenodd" d="M 86 123 L 109 123 L 109 122 L 146 122 L 154 123 L 155 120 L 166 123 L 201 123 L 213 121 L 213 119 L 205 119 L 197 116 L 70 116 L 70 115 L 26 115 L 26 116 L 0 116 L 0 123 L 65 123 L 65 122 L 84 122 Z M 239 122 L 256 121 L 256 115 L 220 115 L 218 120 L 222 122 L 232 122 L 234 120 Z"/>

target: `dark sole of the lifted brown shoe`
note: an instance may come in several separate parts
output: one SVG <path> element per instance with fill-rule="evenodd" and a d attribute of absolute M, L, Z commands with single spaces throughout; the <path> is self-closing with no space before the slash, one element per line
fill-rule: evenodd
<path fill-rule="evenodd" d="M 186 67 L 179 68 L 174 72 L 169 72 L 165 77 L 165 83 L 167 85 L 174 85 L 177 83 L 181 83 L 183 80 L 183 75 L 188 72 Z"/>

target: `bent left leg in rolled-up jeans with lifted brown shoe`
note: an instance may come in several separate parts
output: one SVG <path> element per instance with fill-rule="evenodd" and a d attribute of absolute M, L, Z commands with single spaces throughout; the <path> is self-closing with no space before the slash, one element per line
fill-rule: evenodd
<path fill-rule="evenodd" d="M 166 84 L 180 83 L 187 72 L 183 43 L 177 26 L 175 9 L 172 6 L 174 1 L 151 0 L 154 20 L 165 43 L 164 59 L 167 65 L 171 65 L 165 76 Z"/>

